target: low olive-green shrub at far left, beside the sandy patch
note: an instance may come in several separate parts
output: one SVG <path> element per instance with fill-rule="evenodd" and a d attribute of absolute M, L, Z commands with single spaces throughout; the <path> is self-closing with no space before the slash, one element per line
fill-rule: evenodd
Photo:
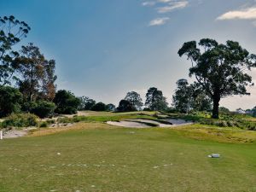
<path fill-rule="evenodd" d="M 31 113 L 11 114 L 3 123 L 3 128 L 37 126 L 38 117 Z"/>

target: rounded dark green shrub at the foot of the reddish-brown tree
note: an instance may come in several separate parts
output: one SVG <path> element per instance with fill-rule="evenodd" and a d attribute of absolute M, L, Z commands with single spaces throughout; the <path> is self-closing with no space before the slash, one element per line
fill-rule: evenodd
<path fill-rule="evenodd" d="M 32 108 L 30 112 L 38 115 L 39 118 L 46 118 L 52 116 L 54 111 L 54 102 L 38 101 L 32 102 Z"/>

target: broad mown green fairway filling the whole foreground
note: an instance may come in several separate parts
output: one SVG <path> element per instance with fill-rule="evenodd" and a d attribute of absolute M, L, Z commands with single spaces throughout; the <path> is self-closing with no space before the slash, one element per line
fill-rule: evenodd
<path fill-rule="evenodd" d="M 41 135 L 1 141 L 1 192 L 256 191 L 255 143 L 103 123 Z"/>

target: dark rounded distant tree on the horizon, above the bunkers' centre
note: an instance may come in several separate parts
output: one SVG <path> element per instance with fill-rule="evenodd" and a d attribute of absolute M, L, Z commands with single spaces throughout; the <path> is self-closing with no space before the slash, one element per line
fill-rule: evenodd
<path fill-rule="evenodd" d="M 145 106 L 147 106 L 152 111 L 160 111 L 166 110 L 168 103 L 166 102 L 166 97 L 163 96 L 161 90 L 157 90 L 157 88 L 151 87 L 148 89 L 146 94 Z"/>

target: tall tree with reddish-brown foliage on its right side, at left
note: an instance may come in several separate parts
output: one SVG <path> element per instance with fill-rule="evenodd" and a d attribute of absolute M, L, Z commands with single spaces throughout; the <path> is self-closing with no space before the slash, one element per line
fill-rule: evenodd
<path fill-rule="evenodd" d="M 52 101 L 55 97 L 55 61 L 47 61 L 40 49 L 32 43 L 22 46 L 17 58 L 18 85 L 26 101 L 38 97 Z"/>

